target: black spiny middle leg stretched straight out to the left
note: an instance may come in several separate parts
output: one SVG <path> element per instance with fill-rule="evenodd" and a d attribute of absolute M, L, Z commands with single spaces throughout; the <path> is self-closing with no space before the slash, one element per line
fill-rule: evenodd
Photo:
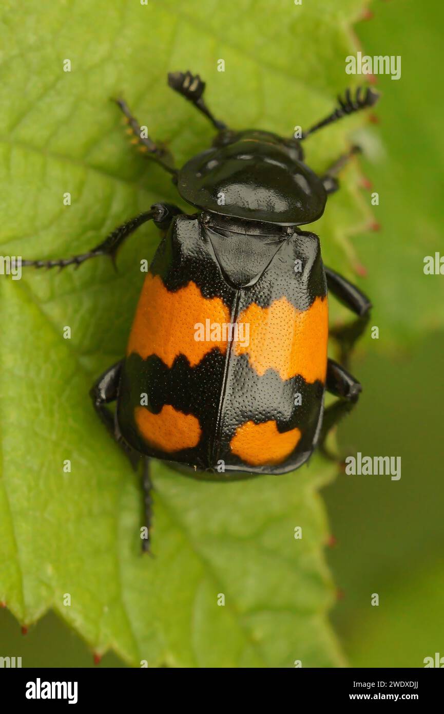
<path fill-rule="evenodd" d="M 131 221 L 126 221 L 122 226 L 118 226 L 102 243 L 99 243 L 98 246 L 92 248 L 92 250 L 87 253 L 71 256 L 71 258 L 57 258 L 49 261 L 21 261 L 21 265 L 34 266 L 34 268 L 66 268 L 66 266 L 75 264 L 79 267 L 81 263 L 88 261 L 89 258 L 97 258 L 98 256 L 110 256 L 115 264 L 118 248 L 121 247 L 123 241 L 125 241 L 128 236 L 131 236 L 131 233 L 133 233 L 138 226 L 152 219 L 154 225 L 164 231 L 168 228 L 173 217 L 181 212 L 179 208 L 170 203 L 154 203 L 150 211 L 140 213 L 139 216 L 131 218 Z"/>

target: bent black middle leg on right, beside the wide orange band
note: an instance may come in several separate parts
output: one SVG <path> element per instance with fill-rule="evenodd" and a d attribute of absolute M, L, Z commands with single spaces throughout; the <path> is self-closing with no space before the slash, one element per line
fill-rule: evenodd
<path fill-rule="evenodd" d="M 355 342 L 365 331 L 370 319 L 372 304 L 368 297 L 353 283 L 345 280 L 331 268 L 325 268 L 328 291 L 358 316 L 349 325 L 333 328 L 330 334 L 339 343 L 341 361 L 347 365 Z"/>

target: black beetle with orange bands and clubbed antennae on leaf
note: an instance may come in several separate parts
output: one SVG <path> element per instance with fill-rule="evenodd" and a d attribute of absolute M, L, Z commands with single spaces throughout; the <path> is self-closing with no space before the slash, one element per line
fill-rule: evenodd
<path fill-rule="evenodd" d="M 337 175 L 358 148 L 318 176 L 304 163 L 307 136 L 373 106 L 359 88 L 299 139 L 229 129 L 203 101 L 205 83 L 190 71 L 168 74 L 217 130 L 211 148 L 176 169 L 169 151 L 146 136 L 125 101 L 133 143 L 169 172 L 184 201 L 151 208 L 116 228 L 87 253 L 22 265 L 64 268 L 97 256 L 113 261 L 146 221 L 162 233 L 136 308 L 126 356 L 91 389 L 99 418 L 136 468 L 143 459 L 150 550 L 150 459 L 200 478 L 247 478 L 293 471 L 323 446 L 350 411 L 360 383 L 327 356 L 328 291 L 355 313 L 336 331 L 345 363 L 370 314 L 369 299 L 323 266 L 318 236 Z M 328 391 L 338 399 L 324 409 Z M 116 402 L 111 413 L 107 405 Z"/>

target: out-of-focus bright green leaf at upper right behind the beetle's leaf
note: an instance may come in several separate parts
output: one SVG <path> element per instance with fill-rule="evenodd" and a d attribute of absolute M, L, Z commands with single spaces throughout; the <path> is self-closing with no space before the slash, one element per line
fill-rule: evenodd
<path fill-rule="evenodd" d="M 372 321 L 380 328 L 379 340 L 370 342 L 381 351 L 411 348 L 444 326 L 443 276 L 423 271 L 425 256 L 444 254 L 437 180 L 444 160 L 444 106 L 430 69 L 441 66 L 443 23 L 440 0 L 427 6 L 404 0 L 402 6 L 381 6 L 372 21 L 359 26 L 366 54 L 400 56 L 402 68 L 399 80 L 378 76 L 380 124 L 364 144 L 375 147 L 366 153 L 364 168 L 371 191 L 379 193 L 373 216 L 381 230 L 359 238 L 359 254 L 368 270 Z M 427 52 L 418 52 L 418 43 Z"/>

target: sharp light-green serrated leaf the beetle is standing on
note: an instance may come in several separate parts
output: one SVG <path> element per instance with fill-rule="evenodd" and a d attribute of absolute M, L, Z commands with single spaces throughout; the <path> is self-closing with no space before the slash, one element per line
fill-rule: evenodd
<path fill-rule="evenodd" d="M 200 72 L 208 103 L 232 126 L 290 136 L 296 124 L 325 116 L 349 79 L 345 56 L 357 49 L 350 23 L 361 8 L 358 0 L 7 4 L 3 253 L 79 253 L 153 201 L 177 201 L 161 169 L 130 150 L 109 101 L 123 94 L 180 165 L 212 132 L 166 88 L 167 71 Z M 311 139 L 308 161 L 324 169 L 363 121 Z M 368 221 L 357 176 L 357 166 L 345 172 L 322 223 L 333 267 L 353 267 L 349 237 Z M 141 228 L 121 251 L 118 275 L 98 259 L 79 271 L 1 280 L 0 598 L 26 625 L 54 608 L 96 652 L 113 648 L 136 666 L 343 665 L 326 619 L 335 588 L 318 496 L 335 466 L 321 458 L 288 476 L 230 484 L 196 483 L 156 463 L 156 558 L 140 554 L 138 476 L 96 420 L 88 392 L 125 351 L 139 261 L 156 241 L 155 228 Z"/>

